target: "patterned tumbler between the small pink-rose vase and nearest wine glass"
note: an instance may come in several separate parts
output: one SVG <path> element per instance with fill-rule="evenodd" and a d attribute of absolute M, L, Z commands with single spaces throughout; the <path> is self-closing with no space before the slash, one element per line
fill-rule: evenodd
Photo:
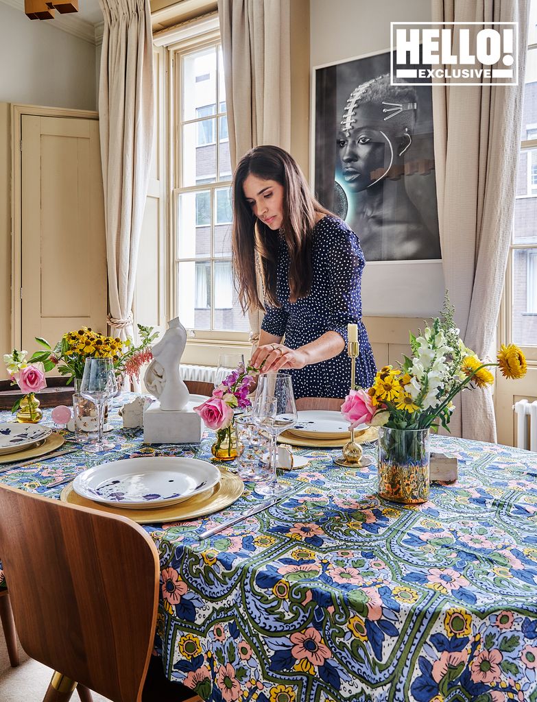
<path fill-rule="evenodd" d="M 270 479 L 267 461 L 270 437 L 260 430 L 250 414 L 235 418 L 237 430 L 237 474 L 248 482 L 266 482 Z"/>

